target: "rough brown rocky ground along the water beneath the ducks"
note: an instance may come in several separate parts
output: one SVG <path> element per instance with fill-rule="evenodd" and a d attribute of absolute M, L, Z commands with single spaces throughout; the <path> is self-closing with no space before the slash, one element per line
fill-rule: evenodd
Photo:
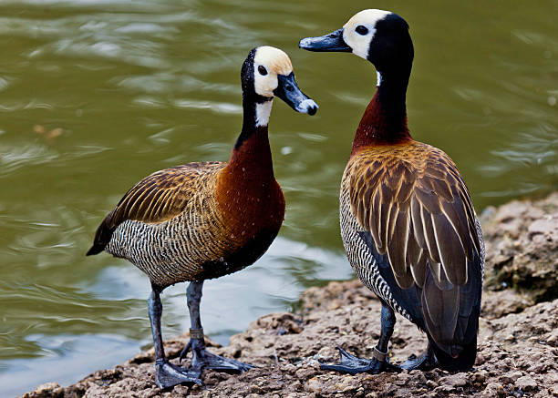
<path fill-rule="evenodd" d="M 479 354 L 470 372 L 439 370 L 357 374 L 322 372 L 336 362 L 335 347 L 370 357 L 379 337 L 380 303 L 358 281 L 311 288 L 296 313 L 265 315 L 227 347 L 210 350 L 258 367 L 241 375 L 203 373 L 205 386 L 160 391 L 153 383 L 153 350 L 68 387 L 47 383 L 31 397 L 387 397 L 558 396 L 558 193 L 513 201 L 482 216 L 487 242 Z M 166 342 L 177 361 L 188 341 Z M 426 345 L 424 335 L 398 317 L 391 362 Z"/>

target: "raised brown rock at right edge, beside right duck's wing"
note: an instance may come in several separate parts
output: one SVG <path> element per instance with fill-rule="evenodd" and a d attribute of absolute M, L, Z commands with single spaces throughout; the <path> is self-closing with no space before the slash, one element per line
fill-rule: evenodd
<path fill-rule="evenodd" d="M 535 302 L 558 298 L 558 192 L 485 213 L 486 286 L 511 286 Z"/>

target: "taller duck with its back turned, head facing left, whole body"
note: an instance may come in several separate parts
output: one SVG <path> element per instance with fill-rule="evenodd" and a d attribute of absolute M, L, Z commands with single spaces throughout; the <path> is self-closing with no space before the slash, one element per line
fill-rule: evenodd
<path fill-rule="evenodd" d="M 484 243 L 456 164 L 410 135 L 406 96 L 414 47 L 408 23 L 393 12 L 367 9 L 328 35 L 303 38 L 299 47 L 353 53 L 377 71 L 376 93 L 343 173 L 339 219 L 351 267 L 381 301 L 380 337 L 371 358 L 338 347 L 340 362 L 321 368 L 351 374 L 469 370 L 477 352 Z M 426 350 L 399 366 L 388 358 L 396 312 L 428 337 Z"/>

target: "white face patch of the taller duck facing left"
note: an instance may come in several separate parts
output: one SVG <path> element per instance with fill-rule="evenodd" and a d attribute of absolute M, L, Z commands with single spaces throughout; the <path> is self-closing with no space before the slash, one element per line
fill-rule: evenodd
<path fill-rule="evenodd" d="M 367 59 L 370 43 L 376 35 L 377 21 L 384 19 L 389 14 L 392 13 L 384 10 L 363 10 L 347 21 L 343 26 L 343 40 L 347 46 L 351 47 L 353 54 Z M 366 28 L 364 35 L 362 33 L 365 32 L 365 29 L 359 26 Z"/>

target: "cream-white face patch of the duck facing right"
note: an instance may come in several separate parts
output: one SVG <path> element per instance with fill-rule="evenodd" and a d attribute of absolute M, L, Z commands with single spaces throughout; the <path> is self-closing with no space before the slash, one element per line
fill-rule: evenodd
<path fill-rule="evenodd" d="M 263 97 L 274 97 L 279 84 L 277 75 L 288 76 L 293 72 L 291 59 L 284 51 L 271 46 L 256 49 L 253 57 L 253 88 Z"/>

